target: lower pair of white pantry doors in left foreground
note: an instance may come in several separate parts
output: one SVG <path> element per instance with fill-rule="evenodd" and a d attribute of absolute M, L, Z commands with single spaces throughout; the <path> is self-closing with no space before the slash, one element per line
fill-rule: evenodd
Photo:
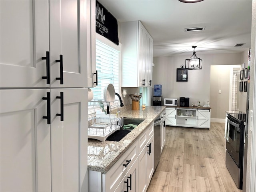
<path fill-rule="evenodd" d="M 87 89 L 0 94 L 1 191 L 86 191 Z"/>

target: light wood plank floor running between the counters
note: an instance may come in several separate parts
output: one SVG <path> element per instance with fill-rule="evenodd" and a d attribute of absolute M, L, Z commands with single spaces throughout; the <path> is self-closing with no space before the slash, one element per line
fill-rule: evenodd
<path fill-rule="evenodd" d="M 166 144 L 147 192 L 242 192 L 225 165 L 224 123 L 166 126 Z"/>

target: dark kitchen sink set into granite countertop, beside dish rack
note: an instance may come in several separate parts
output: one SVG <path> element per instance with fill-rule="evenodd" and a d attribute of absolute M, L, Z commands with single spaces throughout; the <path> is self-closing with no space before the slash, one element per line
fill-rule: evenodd
<path fill-rule="evenodd" d="M 117 130 L 116 132 L 111 134 L 106 140 L 107 141 L 120 141 L 122 138 L 124 138 L 124 136 L 126 136 L 129 132 L 131 132 L 135 128 L 135 126 L 139 125 L 144 120 L 145 119 L 124 117 L 124 126 L 122 126 L 120 128 L 120 130 Z M 135 126 L 133 126 L 133 125 L 135 125 Z"/>

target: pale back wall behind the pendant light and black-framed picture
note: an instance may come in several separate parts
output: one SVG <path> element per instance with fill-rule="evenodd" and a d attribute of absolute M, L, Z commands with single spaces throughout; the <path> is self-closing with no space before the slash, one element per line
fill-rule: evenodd
<path fill-rule="evenodd" d="M 188 70 L 188 82 L 176 82 L 176 69 L 180 68 L 180 65 L 184 65 L 185 59 L 191 55 L 154 57 L 153 62 L 155 67 L 153 68 L 152 84 L 162 84 L 163 98 L 179 98 L 185 96 L 190 97 L 190 105 L 197 103 L 197 101 L 200 101 L 201 105 L 204 105 L 207 101 L 210 101 L 212 110 L 214 108 L 218 109 L 220 106 L 211 103 L 210 100 L 210 66 L 240 65 L 242 63 L 241 53 L 200 55 L 198 52 L 197 55 L 203 60 L 202 70 Z M 218 79 L 216 79 L 217 82 Z M 229 97 L 226 98 L 226 102 L 229 102 Z M 212 114 L 211 118 L 218 117 Z"/>

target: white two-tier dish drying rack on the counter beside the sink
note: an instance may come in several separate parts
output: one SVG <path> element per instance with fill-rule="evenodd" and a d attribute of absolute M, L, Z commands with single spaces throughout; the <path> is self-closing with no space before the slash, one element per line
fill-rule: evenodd
<path fill-rule="evenodd" d="M 91 101 L 89 105 L 92 104 L 93 106 L 107 106 L 107 114 L 105 112 L 96 112 L 95 117 L 92 117 L 93 124 L 88 126 L 88 138 L 97 139 L 101 142 L 106 141 L 108 136 L 114 133 L 124 124 L 124 119 L 119 117 L 118 114 L 109 114 L 109 107 L 111 103 L 114 102 L 104 102 L 104 101 Z M 118 103 L 118 102 L 117 102 Z M 104 108 L 103 108 L 104 109 Z"/>

